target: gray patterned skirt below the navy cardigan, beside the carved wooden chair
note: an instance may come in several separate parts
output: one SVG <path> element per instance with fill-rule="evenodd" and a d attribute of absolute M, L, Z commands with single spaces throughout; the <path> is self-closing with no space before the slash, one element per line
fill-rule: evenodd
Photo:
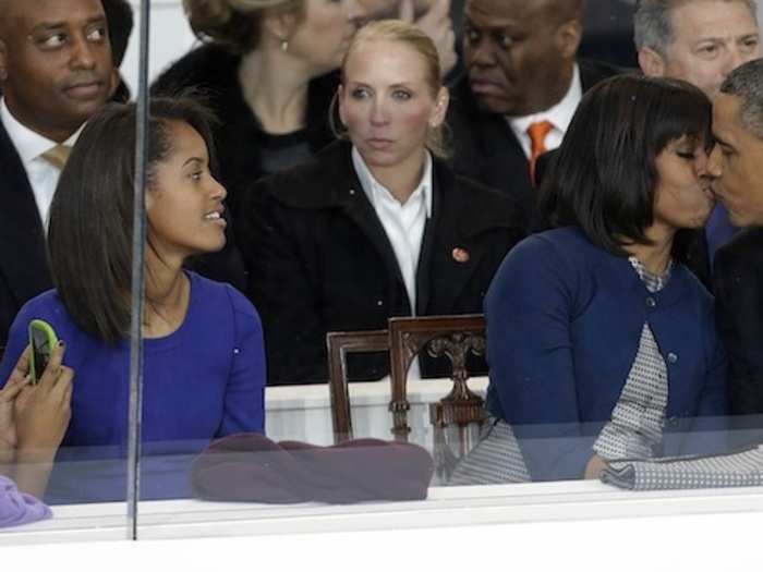
<path fill-rule="evenodd" d="M 480 441 L 453 470 L 448 485 L 529 483 L 530 473 L 511 426 L 489 417 Z"/>

